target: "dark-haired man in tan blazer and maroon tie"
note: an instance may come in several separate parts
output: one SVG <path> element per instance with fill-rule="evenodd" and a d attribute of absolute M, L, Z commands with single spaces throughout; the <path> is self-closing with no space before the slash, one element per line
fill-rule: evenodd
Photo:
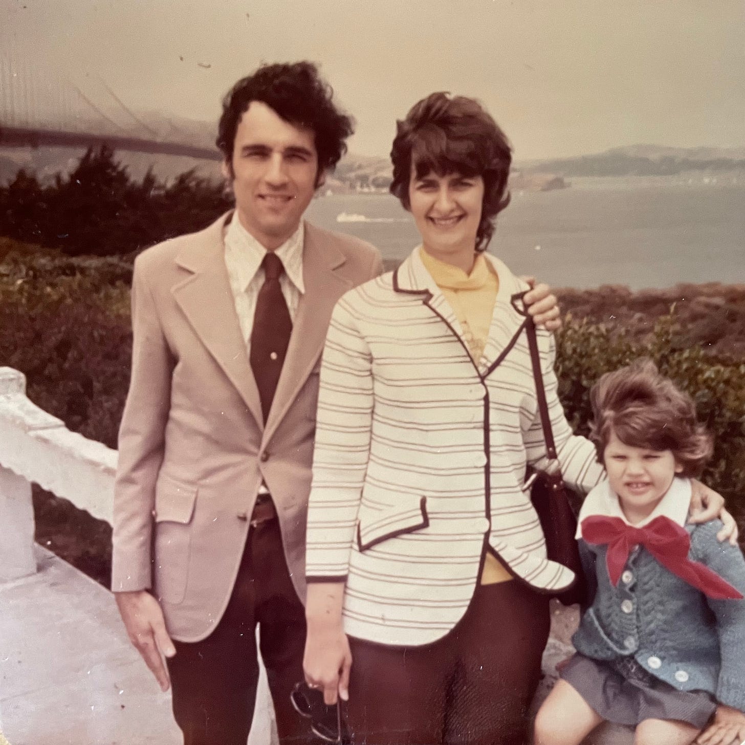
<path fill-rule="evenodd" d="M 256 624 L 280 741 L 309 741 L 289 697 L 320 355 L 335 302 L 381 259 L 302 215 L 351 133 L 315 66 L 261 67 L 223 101 L 235 211 L 135 264 L 112 589 L 187 745 L 245 745 Z M 547 294 L 536 320 L 558 315 Z"/>

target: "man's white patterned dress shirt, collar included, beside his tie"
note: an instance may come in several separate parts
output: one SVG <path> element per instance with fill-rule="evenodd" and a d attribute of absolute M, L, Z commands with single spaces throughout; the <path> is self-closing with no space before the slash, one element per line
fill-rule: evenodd
<path fill-rule="evenodd" d="M 279 277 L 279 286 L 287 301 L 291 319 L 295 320 L 300 297 L 305 293 L 302 283 L 302 246 L 305 238 L 305 227 L 301 222 L 297 230 L 274 252 L 282 261 L 285 272 Z M 235 302 L 235 312 L 241 333 L 246 342 L 246 351 L 250 354 L 253 317 L 256 314 L 256 299 L 264 285 L 264 261 L 267 250 L 241 225 L 238 210 L 233 212 L 232 219 L 225 232 L 225 265 L 228 270 L 230 289 Z"/>

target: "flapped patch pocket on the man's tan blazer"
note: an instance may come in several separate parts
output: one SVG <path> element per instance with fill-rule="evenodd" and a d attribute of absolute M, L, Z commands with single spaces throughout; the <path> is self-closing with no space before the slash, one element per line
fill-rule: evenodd
<path fill-rule="evenodd" d="M 180 603 L 186 595 L 191 519 L 197 487 L 162 475 L 155 495 L 155 591 L 159 600 Z"/>

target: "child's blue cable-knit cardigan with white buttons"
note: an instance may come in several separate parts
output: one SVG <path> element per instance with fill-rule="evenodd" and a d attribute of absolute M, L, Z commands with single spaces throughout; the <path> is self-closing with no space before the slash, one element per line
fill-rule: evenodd
<path fill-rule="evenodd" d="M 717 541 L 722 523 L 686 524 L 688 557 L 702 562 L 745 595 L 745 559 Z M 645 548 L 630 553 L 618 586 L 606 568 L 606 546 L 580 539 L 592 605 L 574 647 L 596 660 L 633 656 L 679 691 L 708 691 L 745 711 L 745 600 L 711 600 L 659 564 Z"/>

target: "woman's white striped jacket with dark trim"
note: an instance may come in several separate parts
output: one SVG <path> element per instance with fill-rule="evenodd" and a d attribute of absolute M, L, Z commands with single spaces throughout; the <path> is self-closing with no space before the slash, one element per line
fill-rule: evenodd
<path fill-rule="evenodd" d="M 489 547 L 536 589 L 574 574 L 546 559 L 527 464 L 548 462 L 516 294 L 498 259 L 489 340 L 478 367 L 450 305 L 415 250 L 393 273 L 345 294 L 323 352 L 308 505 L 306 576 L 344 580 L 346 633 L 427 644 L 466 612 Z M 603 475 L 557 399 L 554 340 L 539 330 L 565 481 Z M 497 619 L 495 619 L 496 621 Z"/>

